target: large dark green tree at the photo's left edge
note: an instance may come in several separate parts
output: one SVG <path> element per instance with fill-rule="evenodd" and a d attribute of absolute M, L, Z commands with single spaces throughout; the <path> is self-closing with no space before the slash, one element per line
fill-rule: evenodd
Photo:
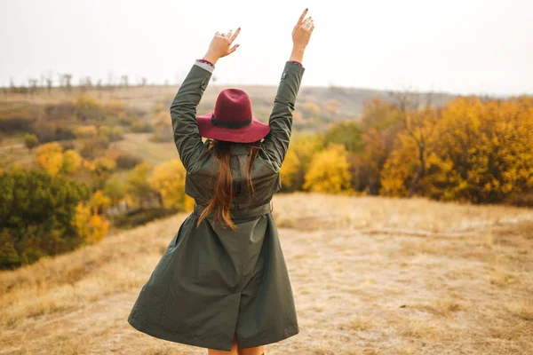
<path fill-rule="evenodd" d="M 81 245 L 71 222 L 87 185 L 42 170 L 0 174 L 0 268 L 35 262 Z"/>

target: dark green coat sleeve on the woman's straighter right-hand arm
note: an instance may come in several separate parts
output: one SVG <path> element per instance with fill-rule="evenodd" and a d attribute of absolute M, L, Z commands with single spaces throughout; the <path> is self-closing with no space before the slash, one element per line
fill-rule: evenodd
<path fill-rule="evenodd" d="M 270 132 L 263 140 L 263 149 L 269 159 L 281 169 L 289 149 L 290 133 L 292 130 L 292 112 L 298 96 L 299 86 L 305 68 L 294 62 L 287 61 L 283 69 L 282 78 L 274 99 L 274 107 L 268 124 Z"/>

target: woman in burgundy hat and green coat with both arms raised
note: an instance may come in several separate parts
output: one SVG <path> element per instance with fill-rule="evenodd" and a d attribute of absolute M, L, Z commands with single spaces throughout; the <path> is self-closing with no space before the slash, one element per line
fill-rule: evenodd
<path fill-rule="evenodd" d="M 269 124 L 251 114 L 250 98 L 237 89 L 221 91 L 214 112 L 196 117 L 215 63 L 239 46 L 232 44 L 240 28 L 217 32 L 179 87 L 172 128 L 195 209 L 133 305 L 128 322 L 139 331 L 207 348 L 209 355 L 261 355 L 263 345 L 298 334 L 271 200 L 281 187 L 301 62 L 314 29 L 306 12 L 292 31 Z"/>

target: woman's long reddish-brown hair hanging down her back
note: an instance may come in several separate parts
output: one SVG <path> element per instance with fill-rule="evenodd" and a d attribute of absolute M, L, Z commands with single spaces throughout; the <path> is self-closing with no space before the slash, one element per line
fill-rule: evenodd
<path fill-rule="evenodd" d="M 233 178 L 231 176 L 231 168 L 229 160 L 231 157 L 230 147 L 232 142 L 218 139 L 209 139 L 207 150 L 214 154 L 214 157 L 219 161 L 219 171 L 216 175 L 215 189 L 211 201 L 202 214 L 198 218 L 196 226 L 200 225 L 204 218 L 209 216 L 214 211 L 214 220 L 219 221 L 221 225 L 226 224 L 232 230 L 238 229 L 237 225 L 232 221 L 229 213 L 229 208 L 233 202 Z M 259 141 L 249 143 L 247 145 L 250 149 L 248 159 L 246 163 L 246 187 L 249 193 L 249 203 L 255 193 L 253 184 L 251 182 L 251 171 L 253 170 L 253 163 L 259 154 Z M 214 160 L 213 160 L 214 166 Z M 211 175 L 211 179 L 215 178 L 215 175 Z M 212 180 L 211 180 L 212 182 Z"/>

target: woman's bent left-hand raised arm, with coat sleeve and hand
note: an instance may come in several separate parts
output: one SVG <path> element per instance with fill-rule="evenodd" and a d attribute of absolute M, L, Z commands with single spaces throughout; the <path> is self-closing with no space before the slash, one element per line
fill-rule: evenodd
<path fill-rule="evenodd" d="M 195 61 L 187 77 L 179 86 L 178 93 L 171 104 L 171 121 L 174 132 L 174 143 L 178 148 L 179 159 L 186 170 L 190 170 L 196 157 L 202 153 L 202 136 L 196 122 L 196 107 L 200 103 L 203 91 L 211 79 L 215 63 L 222 57 L 233 53 L 239 44 L 230 48 L 239 35 L 241 28 L 227 35 L 217 32 L 211 40 L 209 50 L 203 57 Z"/>

